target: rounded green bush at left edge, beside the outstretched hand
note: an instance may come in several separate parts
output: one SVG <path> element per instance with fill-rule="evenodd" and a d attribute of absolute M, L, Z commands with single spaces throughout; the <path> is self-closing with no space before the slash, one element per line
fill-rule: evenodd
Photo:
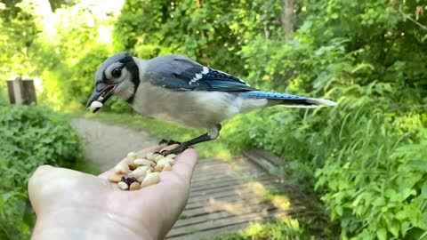
<path fill-rule="evenodd" d="M 80 142 L 63 116 L 36 106 L 0 107 L 0 136 L 0 239 L 28 239 L 28 178 L 42 164 L 75 164 Z"/>

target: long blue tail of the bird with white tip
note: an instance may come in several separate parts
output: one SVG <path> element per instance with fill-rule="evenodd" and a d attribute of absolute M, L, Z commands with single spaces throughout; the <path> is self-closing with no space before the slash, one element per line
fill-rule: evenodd
<path fill-rule="evenodd" d="M 243 92 L 240 96 L 248 99 L 265 99 L 268 100 L 268 106 L 284 105 L 288 108 L 317 108 L 319 106 L 335 106 L 337 104 L 333 100 L 314 99 L 278 92 L 250 91 Z"/>

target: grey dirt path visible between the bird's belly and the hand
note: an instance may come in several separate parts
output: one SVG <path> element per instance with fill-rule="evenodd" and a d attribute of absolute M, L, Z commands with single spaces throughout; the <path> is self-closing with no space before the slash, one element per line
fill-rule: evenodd
<path fill-rule="evenodd" d="M 147 132 L 103 124 L 96 120 L 77 118 L 71 124 L 83 140 L 85 157 L 100 167 L 109 170 L 128 152 L 157 144 Z"/>

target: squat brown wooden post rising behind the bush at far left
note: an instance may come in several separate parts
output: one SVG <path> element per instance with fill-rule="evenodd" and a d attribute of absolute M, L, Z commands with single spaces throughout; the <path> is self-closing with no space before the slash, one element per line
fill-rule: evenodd
<path fill-rule="evenodd" d="M 7 90 L 11 104 L 36 103 L 36 89 L 33 80 L 24 80 L 19 76 L 7 81 Z"/>

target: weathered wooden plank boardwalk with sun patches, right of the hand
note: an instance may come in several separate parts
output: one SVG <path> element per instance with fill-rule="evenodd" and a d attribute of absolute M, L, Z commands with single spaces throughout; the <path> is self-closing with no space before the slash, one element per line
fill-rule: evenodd
<path fill-rule="evenodd" d="M 232 163 L 199 160 L 191 181 L 189 202 L 166 239 L 203 239 L 246 228 L 250 222 L 286 217 L 286 199 L 269 201 L 278 186 L 269 172 L 246 157 Z"/>

